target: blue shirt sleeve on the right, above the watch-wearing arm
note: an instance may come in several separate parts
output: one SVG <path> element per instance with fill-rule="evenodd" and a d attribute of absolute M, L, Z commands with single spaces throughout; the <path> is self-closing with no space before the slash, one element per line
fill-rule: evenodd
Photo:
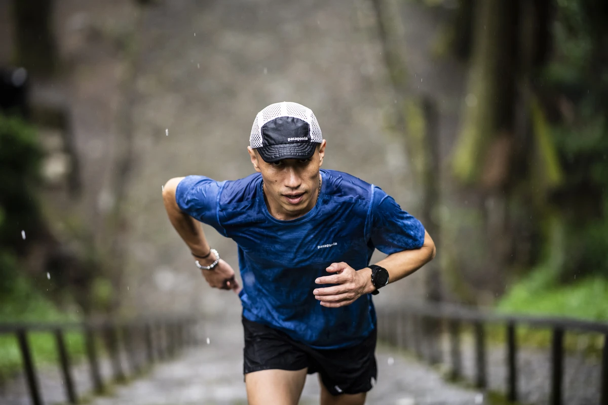
<path fill-rule="evenodd" d="M 371 202 L 371 242 L 385 254 L 421 248 L 424 226 L 403 211 L 393 197 L 374 186 Z"/>

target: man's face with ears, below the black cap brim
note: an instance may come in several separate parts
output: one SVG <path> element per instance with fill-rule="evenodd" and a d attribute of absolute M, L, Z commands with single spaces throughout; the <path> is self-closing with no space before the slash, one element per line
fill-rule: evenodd
<path fill-rule="evenodd" d="M 262 174 L 266 198 L 278 203 L 285 214 L 297 216 L 313 208 L 319 187 L 319 168 L 325 155 L 325 140 L 308 160 L 284 159 L 268 163 L 257 151 L 247 147 L 255 171 Z"/>

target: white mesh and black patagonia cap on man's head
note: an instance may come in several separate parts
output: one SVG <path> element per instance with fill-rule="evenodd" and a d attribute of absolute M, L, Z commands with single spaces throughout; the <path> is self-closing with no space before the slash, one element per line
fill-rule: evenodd
<path fill-rule="evenodd" d="M 313 111 L 290 101 L 270 104 L 255 117 L 249 145 L 265 162 L 308 159 L 323 141 Z"/>

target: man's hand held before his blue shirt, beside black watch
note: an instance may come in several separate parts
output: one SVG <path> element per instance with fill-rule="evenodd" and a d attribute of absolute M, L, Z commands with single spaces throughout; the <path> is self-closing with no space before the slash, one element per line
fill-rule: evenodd
<path fill-rule="evenodd" d="M 331 276 L 319 277 L 317 284 L 339 284 L 333 287 L 316 288 L 313 291 L 314 298 L 321 301 L 323 307 L 337 308 L 352 304 L 363 294 L 375 290 L 371 284 L 371 269 L 354 270 L 344 262 L 332 263 L 326 268 L 328 273 L 336 273 Z"/>

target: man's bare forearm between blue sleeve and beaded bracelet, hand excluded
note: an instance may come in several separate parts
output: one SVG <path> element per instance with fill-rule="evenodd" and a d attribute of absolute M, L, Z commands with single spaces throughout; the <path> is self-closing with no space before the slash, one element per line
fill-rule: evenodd
<path fill-rule="evenodd" d="M 198 256 L 205 256 L 209 253 L 209 243 L 207 243 L 201 224 L 188 214 L 182 213 L 175 200 L 175 191 L 181 179 L 182 177 L 176 177 L 165 184 L 162 192 L 165 209 L 171 225 L 188 245 L 190 251 Z"/>

